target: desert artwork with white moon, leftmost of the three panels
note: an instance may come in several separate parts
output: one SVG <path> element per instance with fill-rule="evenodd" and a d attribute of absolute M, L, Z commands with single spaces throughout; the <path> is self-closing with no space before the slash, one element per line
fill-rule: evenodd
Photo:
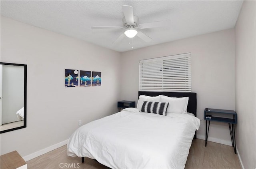
<path fill-rule="evenodd" d="M 78 70 L 65 69 L 65 87 L 78 87 Z"/>

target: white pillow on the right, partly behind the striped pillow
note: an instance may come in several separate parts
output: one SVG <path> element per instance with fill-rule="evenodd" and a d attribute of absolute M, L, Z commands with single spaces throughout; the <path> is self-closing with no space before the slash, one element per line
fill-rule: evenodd
<path fill-rule="evenodd" d="M 188 97 L 167 97 L 160 95 L 160 102 L 169 102 L 167 113 L 186 113 Z"/>

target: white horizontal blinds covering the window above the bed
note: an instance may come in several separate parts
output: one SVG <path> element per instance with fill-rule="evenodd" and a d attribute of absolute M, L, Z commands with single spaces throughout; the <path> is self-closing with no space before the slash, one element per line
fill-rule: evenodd
<path fill-rule="evenodd" d="M 140 60 L 140 91 L 191 92 L 191 53 Z"/>

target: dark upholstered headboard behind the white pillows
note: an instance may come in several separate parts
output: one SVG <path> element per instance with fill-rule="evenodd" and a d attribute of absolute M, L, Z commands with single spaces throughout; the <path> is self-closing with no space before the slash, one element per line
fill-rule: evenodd
<path fill-rule="evenodd" d="M 187 110 L 196 116 L 196 93 L 192 92 L 161 92 L 161 91 L 139 91 L 140 95 L 158 96 L 166 95 L 168 97 L 189 97 Z"/>

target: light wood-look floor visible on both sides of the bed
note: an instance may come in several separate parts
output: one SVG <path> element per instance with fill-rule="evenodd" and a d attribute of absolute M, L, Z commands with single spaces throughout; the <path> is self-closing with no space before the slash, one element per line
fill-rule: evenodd
<path fill-rule="evenodd" d="M 67 156 L 66 145 L 27 161 L 27 164 L 28 169 L 109 169 L 96 160 L 85 158 L 84 163 L 81 163 L 81 158 Z M 205 147 L 204 140 L 195 139 L 185 169 L 241 169 L 241 167 L 233 147 L 210 141 Z"/>

